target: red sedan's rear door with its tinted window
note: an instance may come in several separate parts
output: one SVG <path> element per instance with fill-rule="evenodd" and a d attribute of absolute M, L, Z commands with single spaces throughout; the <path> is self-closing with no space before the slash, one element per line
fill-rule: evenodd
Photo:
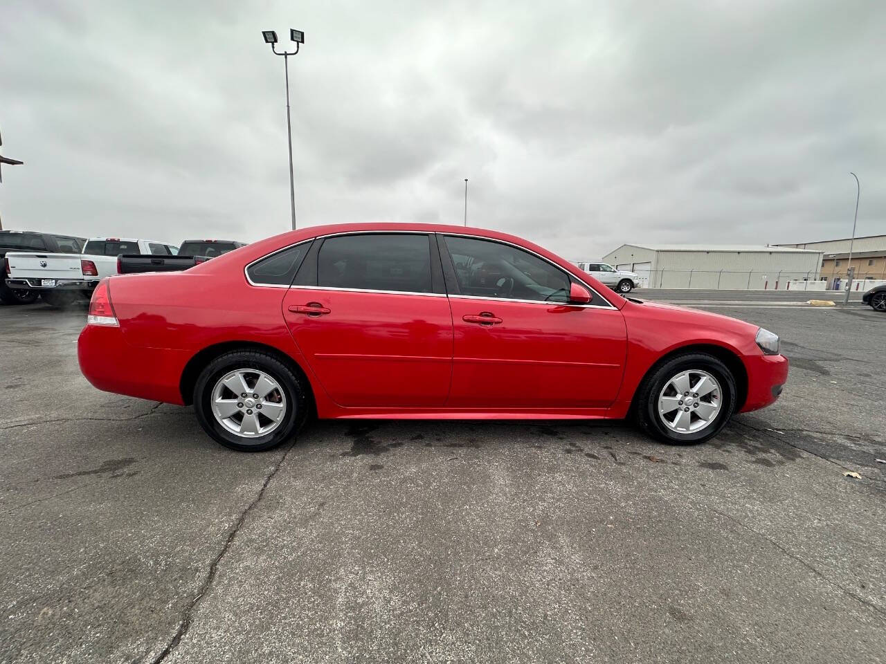
<path fill-rule="evenodd" d="M 445 404 L 453 331 L 435 236 L 321 238 L 287 291 L 283 312 L 338 405 Z"/>

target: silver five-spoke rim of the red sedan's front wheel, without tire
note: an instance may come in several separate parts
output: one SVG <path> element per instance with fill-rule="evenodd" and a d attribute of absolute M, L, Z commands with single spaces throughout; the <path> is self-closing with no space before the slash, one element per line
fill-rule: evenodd
<path fill-rule="evenodd" d="M 658 417 L 680 434 L 696 433 L 717 419 L 723 392 L 713 375 L 700 369 L 676 374 L 658 395 Z"/>

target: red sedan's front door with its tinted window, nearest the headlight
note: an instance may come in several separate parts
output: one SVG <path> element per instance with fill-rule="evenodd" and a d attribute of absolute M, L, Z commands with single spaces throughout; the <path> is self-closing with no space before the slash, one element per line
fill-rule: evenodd
<path fill-rule="evenodd" d="M 459 408 L 601 408 L 626 356 L 621 312 L 599 294 L 569 304 L 571 277 L 513 244 L 440 235 L 455 331 Z"/>

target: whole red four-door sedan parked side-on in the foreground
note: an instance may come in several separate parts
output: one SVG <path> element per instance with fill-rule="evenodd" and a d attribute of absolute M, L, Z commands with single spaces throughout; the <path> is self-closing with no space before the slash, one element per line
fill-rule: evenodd
<path fill-rule="evenodd" d="M 266 450 L 320 418 L 621 419 L 678 444 L 773 403 L 778 336 L 619 296 L 513 235 L 345 224 L 113 276 L 78 354 L 100 390 L 194 405 Z"/>

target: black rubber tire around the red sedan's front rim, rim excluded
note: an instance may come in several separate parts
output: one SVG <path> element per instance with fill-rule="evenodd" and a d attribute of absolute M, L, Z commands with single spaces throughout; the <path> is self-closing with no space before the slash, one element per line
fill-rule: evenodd
<path fill-rule="evenodd" d="M 680 433 L 669 429 L 658 413 L 658 397 L 672 377 L 684 371 L 704 371 L 717 379 L 720 386 L 720 408 L 711 423 L 697 432 Z M 666 396 L 666 395 L 665 395 Z M 704 443 L 719 434 L 735 411 L 735 379 L 719 359 L 703 352 L 677 355 L 656 367 L 641 383 L 634 400 L 634 414 L 640 428 L 664 443 L 691 445 Z"/>

